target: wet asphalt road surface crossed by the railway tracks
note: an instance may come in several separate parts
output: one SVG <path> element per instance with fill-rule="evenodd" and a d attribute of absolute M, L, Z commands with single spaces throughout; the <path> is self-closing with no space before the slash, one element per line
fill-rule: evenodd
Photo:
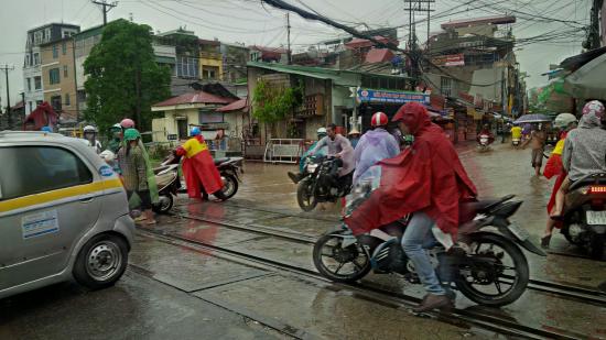
<path fill-rule="evenodd" d="M 530 151 L 497 144 L 480 154 L 472 145 L 461 147 L 459 154 L 483 197 L 516 194 L 524 200 L 516 221 L 538 242 L 551 183 L 533 176 Z M 318 235 L 337 223 L 339 207 L 326 205 L 302 212 L 295 186 L 285 175 L 295 168 L 247 163 L 245 183 L 234 199 L 221 205 L 182 198 L 176 211 Z M 313 270 L 309 244 L 174 217 L 162 217 L 153 231 Z M 561 235 L 554 237 L 552 249 L 581 255 Z M 606 282 L 606 262 L 555 254 L 527 256 L 532 278 L 588 288 Z M 419 318 L 325 282 L 242 264 L 191 244 L 165 242 L 145 231 L 138 237 L 130 264 L 116 287 L 101 292 L 66 283 L 0 300 L 0 339 L 505 338 L 468 325 Z M 422 296 L 419 286 L 392 276 L 369 275 L 365 282 Z M 479 308 L 461 296 L 457 307 Z M 515 304 L 487 312 L 573 338 L 606 339 L 605 310 L 529 290 Z"/>

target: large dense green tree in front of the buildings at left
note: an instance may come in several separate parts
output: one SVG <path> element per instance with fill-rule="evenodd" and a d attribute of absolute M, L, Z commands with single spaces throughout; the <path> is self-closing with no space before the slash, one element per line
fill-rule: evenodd
<path fill-rule="evenodd" d="M 100 131 L 123 118 L 151 127 L 151 105 L 170 97 L 171 70 L 155 63 L 151 28 L 120 19 L 104 28 L 84 63 L 87 121 Z"/>

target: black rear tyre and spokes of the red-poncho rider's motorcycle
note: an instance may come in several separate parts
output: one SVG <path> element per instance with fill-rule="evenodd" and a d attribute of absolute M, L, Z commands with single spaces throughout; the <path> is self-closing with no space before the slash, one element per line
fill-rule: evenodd
<path fill-rule="evenodd" d="M 488 251 L 483 250 L 481 245 L 489 245 Z M 495 246 L 500 249 L 502 253 L 494 253 Z M 455 284 L 458 290 L 474 303 L 484 306 L 500 307 L 516 301 L 526 290 L 529 281 L 528 261 L 518 245 L 500 234 L 478 232 L 472 235 L 470 248 L 472 255 L 497 259 L 498 265 L 491 267 L 493 272 L 487 268 L 484 274 L 481 268 L 479 271 L 467 268 L 472 272 L 475 271 L 472 276 L 462 275 L 462 270 L 459 270 L 458 273 L 455 273 Z M 512 266 L 502 263 L 501 260 L 505 254 L 511 259 Z M 489 278 L 484 275 L 496 277 Z M 467 278 L 473 278 L 473 282 L 468 282 Z M 501 288 L 504 283 L 509 285 L 509 288 L 505 292 Z M 483 287 L 494 286 L 497 293 L 481 292 L 476 287 L 478 285 Z"/>

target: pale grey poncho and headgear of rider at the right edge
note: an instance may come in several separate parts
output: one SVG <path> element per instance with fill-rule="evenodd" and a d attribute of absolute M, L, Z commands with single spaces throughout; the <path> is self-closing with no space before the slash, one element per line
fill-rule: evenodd
<path fill-rule="evenodd" d="M 571 180 L 585 175 L 606 173 L 606 130 L 602 129 L 600 118 L 604 106 L 591 101 L 583 108 L 578 128 L 572 130 L 564 143 L 562 163 Z"/>

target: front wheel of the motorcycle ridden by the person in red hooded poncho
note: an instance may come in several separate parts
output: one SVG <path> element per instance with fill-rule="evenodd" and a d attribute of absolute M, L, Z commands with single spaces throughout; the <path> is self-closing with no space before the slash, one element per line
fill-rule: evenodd
<path fill-rule="evenodd" d="M 370 259 L 358 242 L 342 246 L 343 238 L 321 237 L 314 244 L 314 265 L 324 277 L 339 283 L 354 283 L 370 272 Z"/>

